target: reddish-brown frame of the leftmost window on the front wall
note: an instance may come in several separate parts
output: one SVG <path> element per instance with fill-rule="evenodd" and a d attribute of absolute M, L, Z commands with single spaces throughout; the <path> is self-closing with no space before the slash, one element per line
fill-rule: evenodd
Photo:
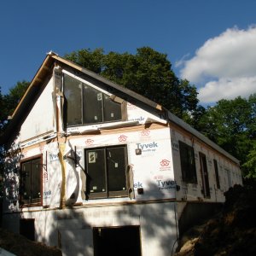
<path fill-rule="evenodd" d="M 22 166 L 26 163 L 30 163 L 32 165 L 32 161 L 39 160 L 39 177 L 40 177 L 40 198 L 38 198 L 38 201 L 32 202 L 32 175 L 30 176 L 30 201 L 24 202 L 23 199 L 23 181 L 22 181 Z M 30 170 L 30 173 L 32 173 L 32 170 Z M 43 206 L 43 154 L 34 155 L 32 157 L 20 160 L 20 207 L 42 207 Z"/>

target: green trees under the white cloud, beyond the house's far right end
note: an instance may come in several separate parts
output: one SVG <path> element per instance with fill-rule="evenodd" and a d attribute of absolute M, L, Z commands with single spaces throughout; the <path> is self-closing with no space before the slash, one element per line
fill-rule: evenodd
<path fill-rule="evenodd" d="M 256 94 L 248 100 L 241 96 L 234 100 L 221 100 L 216 106 L 207 108 L 198 124 L 202 133 L 241 160 L 245 177 L 255 172 L 255 106 Z"/>

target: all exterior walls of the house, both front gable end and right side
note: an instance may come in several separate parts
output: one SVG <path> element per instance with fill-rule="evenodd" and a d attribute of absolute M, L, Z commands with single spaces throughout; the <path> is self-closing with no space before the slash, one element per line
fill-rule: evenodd
<path fill-rule="evenodd" d="M 170 255 L 177 246 L 177 219 L 185 201 L 222 202 L 224 191 L 241 183 L 238 166 L 195 138 L 191 140 L 188 132 L 170 127 L 156 110 L 134 102 L 127 102 L 126 121 L 64 130 L 61 90 L 61 75 L 54 72 L 9 148 L 3 227 L 19 232 L 20 218 L 31 218 L 36 240 L 61 247 L 63 255 L 93 255 L 94 228 L 139 226 L 143 255 Z M 179 141 L 195 149 L 197 184 L 183 183 Z M 84 150 L 115 145 L 127 147 L 134 197 L 88 200 Z M 201 193 L 199 152 L 207 156 L 210 198 Z M 42 207 L 20 207 L 20 160 L 39 154 L 43 159 Z M 216 189 L 213 159 L 218 160 L 220 189 Z"/>

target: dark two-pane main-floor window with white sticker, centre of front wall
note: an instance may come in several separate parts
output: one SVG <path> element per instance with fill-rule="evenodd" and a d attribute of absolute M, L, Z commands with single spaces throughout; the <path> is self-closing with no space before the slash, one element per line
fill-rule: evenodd
<path fill-rule="evenodd" d="M 90 198 L 127 196 L 125 146 L 85 149 Z"/>

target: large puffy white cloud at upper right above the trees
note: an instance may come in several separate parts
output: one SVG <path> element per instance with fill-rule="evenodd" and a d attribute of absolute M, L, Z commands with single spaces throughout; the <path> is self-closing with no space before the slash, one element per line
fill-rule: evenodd
<path fill-rule="evenodd" d="M 234 27 L 207 40 L 183 65 L 182 79 L 204 84 L 199 89 L 203 103 L 249 96 L 256 92 L 256 26 Z"/>

